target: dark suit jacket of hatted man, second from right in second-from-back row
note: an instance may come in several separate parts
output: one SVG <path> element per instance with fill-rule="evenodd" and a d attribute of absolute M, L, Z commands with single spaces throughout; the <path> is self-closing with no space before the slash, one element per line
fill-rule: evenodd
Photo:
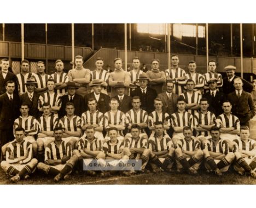
<path fill-rule="evenodd" d="M 203 94 L 203 97 L 208 100 L 208 111 L 214 113 L 216 117 L 223 113 L 222 103 L 226 100 L 226 95 L 224 93 L 217 90 L 215 96 L 212 97 L 211 91 L 208 91 Z"/>

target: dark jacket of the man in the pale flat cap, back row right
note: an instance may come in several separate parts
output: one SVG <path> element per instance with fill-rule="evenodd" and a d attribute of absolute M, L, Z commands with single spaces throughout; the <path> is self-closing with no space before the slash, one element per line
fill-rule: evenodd
<path fill-rule="evenodd" d="M 238 77 L 235 75 L 234 79 L 235 78 L 241 78 L 241 77 Z M 223 78 L 222 90 L 226 96 L 235 90 L 234 79 L 232 79 L 232 81 L 229 82 L 228 77 Z M 247 91 L 248 93 L 251 93 L 251 91 L 253 90 L 253 85 L 251 83 L 247 82 L 245 79 L 242 79 L 242 81 L 243 81 L 243 90 Z"/>

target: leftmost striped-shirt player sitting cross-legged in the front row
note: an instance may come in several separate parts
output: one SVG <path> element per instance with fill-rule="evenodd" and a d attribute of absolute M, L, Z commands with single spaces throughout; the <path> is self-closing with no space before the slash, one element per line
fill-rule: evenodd
<path fill-rule="evenodd" d="M 32 144 L 24 140 L 25 130 L 22 127 L 15 129 L 15 138 L 9 143 L 6 150 L 6 160 L 1 162 L 1 168 L 10 176 L 10 181 L 17 182 L 27 179 L 36 170 L 37 159 L 33 158 Z"/>

